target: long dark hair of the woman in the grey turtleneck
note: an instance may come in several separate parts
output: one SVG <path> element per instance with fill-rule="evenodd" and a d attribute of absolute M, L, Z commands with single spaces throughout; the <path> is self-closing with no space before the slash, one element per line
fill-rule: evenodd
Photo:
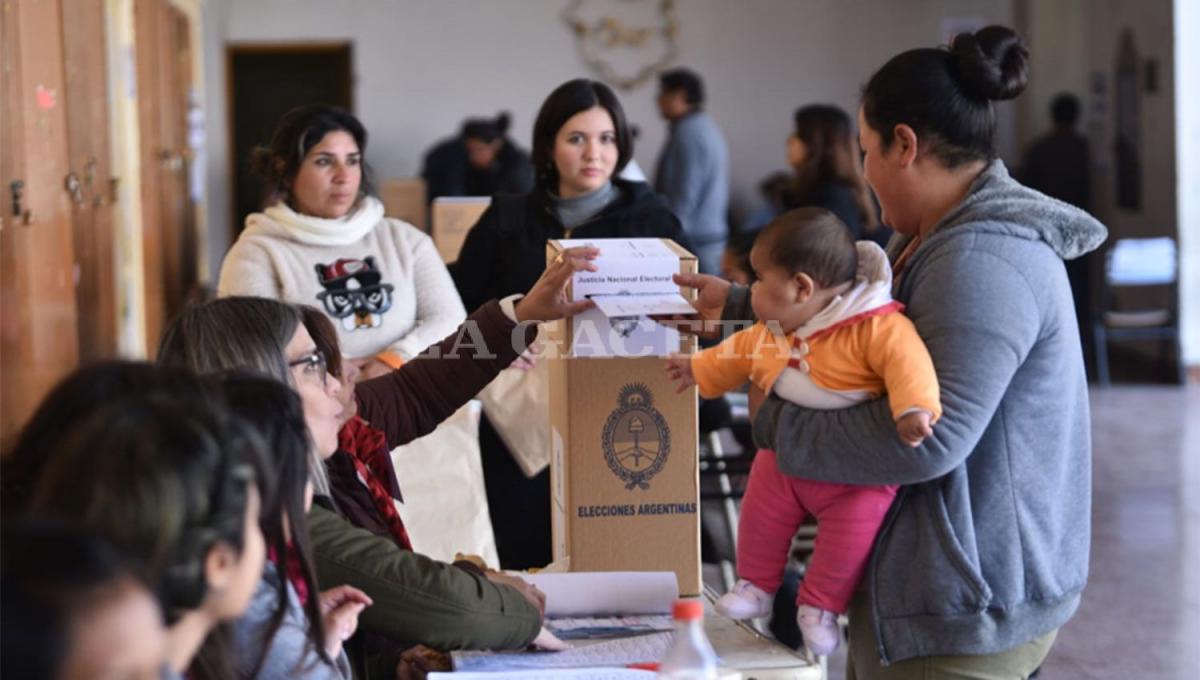
<path fill-rule="evenodd" d="M 612 169 L 618 175 L 634 156 L 634 137 L 625 121 L 625 110 L 620 108 L 617 95 L 596 80 L 577 78 L 568 80 L 546 97 L 538 120 L 533 124 L 533 169 L 534 188 L 558 193 L 558 167 L 554 166 L 554 137 L 570 118 L 593 107 L 601 107 L 612 118 L 613 131 L 617 133 L 617 167 Z"/>

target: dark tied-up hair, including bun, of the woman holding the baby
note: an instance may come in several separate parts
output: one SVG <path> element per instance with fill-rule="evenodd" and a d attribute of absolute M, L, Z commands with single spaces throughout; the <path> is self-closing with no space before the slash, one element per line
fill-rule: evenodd
<path fill-rule="evenodd" d="M 1028 50 L 1006 26 L 959 34 L 949 48 L 893 56 L 863 89 L 863 116 L 892 145 L 894 128 L 912 127 L 922 148 L 947 168 L 996 157 L 996 109 L 1028 80 Z"/>

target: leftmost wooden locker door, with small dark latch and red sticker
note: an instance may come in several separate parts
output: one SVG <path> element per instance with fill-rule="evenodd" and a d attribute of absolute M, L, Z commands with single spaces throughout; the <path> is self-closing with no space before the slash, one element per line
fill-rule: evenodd
<path fill-rule="evenodd" d="M 0 449 L 78 362 L 58 2 L 0 4 Z M 13 182 L 20 182 L 16 188 Z"/>

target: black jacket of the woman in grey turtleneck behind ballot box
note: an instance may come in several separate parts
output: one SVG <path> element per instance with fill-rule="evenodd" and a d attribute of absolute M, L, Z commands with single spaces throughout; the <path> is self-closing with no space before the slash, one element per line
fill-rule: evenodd
<path fill-rule="evenodd" d="M 571 239 L 661 237 L 691 249 L 679 219 L 649 185 L 620 179 L 613 183 L 620 197 L 576 227 Z M 458 261 L 450 265 L 463 305 L 473 309 L 493 297 L 529 290 L 546 269 L 546 241 L 564 237 L 545 192 L 493 198 L 467 234 Z"/>

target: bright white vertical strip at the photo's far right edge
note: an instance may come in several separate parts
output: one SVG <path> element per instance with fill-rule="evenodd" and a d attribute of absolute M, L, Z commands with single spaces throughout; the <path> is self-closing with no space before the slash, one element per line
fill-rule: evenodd
<path fill-rule="evenodd" d="M 1175 6 L 1175 150 L 1178 173 L 1183 361 L 1200 365 L 1200 5 Z"/>

